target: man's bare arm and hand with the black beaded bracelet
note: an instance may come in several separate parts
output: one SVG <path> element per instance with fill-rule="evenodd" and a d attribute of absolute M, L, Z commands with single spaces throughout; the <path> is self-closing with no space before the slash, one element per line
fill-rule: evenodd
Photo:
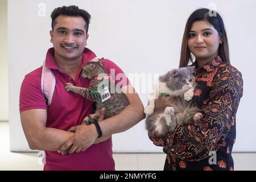
<path fill-rule="evenodd" d="M 126 94 L 130 103 L 120 114 L 99 122 L 102 138 L 108 138 L 109 135 L 126 131 L 145 118 L 144 107 L 133 86 L 123 86 L 122 91 Z M 94 142 L 97 143 L 98 133 L 94 125 L 79 125 L 75 127 L 75 131 L 74 137 L 60 147 L 61 152 L 72 146 L 69 150 L 69 153 L 72 154 L 75 151 L 81 151 L 81 148 L 82 151 L 86 150 Z"/>

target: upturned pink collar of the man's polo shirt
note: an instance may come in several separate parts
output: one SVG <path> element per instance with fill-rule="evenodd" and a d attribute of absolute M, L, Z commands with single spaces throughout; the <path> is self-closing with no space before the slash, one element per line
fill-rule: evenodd
<path fill-rule="evenodd" d="M 88 48 L 84 48 L 84 52 L 82 52 L 82 64 L 92 60 L 94 57 L 96 57 L 95 53 L 92 52 Z M 59 69 L 57 67 L 56 61 L 54 59 L 54 48 L 49 48 L 46 53 L 46 67 L 51 69 Z"/>

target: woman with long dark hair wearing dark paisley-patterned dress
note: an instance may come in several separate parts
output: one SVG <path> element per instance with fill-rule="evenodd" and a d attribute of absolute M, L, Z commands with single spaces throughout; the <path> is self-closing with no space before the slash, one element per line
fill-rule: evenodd
<path fill-rule="evenodd" d="M 195 60 L 195 61 L 193 61 Z M 181 46 L 180 67 L 196 66 L 192 101 L 201 108 L 199 123 L 177 126 L 164 137 L 148 134 L 163 146 L 164 170 L 233 170 L 236 113 L 243 93 L 241 73 L 230 65 L 226 30 L 216 11 L 198 9 L 189 16 Z M 168 106 L 159 97 L 155 109 Z"/>

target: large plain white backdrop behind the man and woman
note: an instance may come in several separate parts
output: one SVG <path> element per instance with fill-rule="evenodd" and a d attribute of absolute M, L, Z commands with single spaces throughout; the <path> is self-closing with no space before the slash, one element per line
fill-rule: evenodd
<path fill-rule="evenodd" d="M 29 151 L 19 118 L 19 89 L 26 73 L 40 67 L 51 47 L 50 14 L 71 1 L 8 1 L 9 110 L 11 151 Z M 43 3 L 43 6 L 38 6 Z M 73 0 L 92 15 L 88 48 L 129 73 L 163 74 L 179 65 L 188 16 L 199 7 L 217 9 L 224 18 L 232 64 L 242 72 L 244 95 L 237 112 L 234 151 L 256 151 L 256 1 Z M 46 7 L 46 11 L 42 7 Z M 46 15 L 46 16 L 44 16 Z M 131 78 L 131 77 L 130 77 Z M 146 93 L 135 88 L 145 105 Z M 114 152 L 161 152 L 147 137 L 144 121 L 113 135 Z"/>

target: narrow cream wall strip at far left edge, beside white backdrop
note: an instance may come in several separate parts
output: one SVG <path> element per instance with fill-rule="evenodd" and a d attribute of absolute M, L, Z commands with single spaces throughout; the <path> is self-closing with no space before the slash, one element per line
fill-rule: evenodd
<path fill-rule="evenodd" d="M 0 0 L 0 121 L 8 121 L 8 113 L 7 0 Z"/>

